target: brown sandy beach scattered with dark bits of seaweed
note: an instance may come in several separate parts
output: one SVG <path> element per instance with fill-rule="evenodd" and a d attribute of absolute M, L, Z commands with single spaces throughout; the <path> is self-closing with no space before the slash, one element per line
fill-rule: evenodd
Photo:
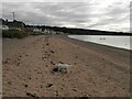
<path fill-rule="evenodd" d="M 65 35 L 3 38 L 2 50 L 3 97 L 130 97 L 130 51 Z M 53 73 L 58 63 L 69 73 Z"/>

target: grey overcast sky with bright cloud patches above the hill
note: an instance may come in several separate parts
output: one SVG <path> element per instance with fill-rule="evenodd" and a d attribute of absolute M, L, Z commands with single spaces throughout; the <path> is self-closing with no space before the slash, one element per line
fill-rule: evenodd
<path fill-rule="evenodd" d="M 43 2 L 43 0 L 4 0 L 2 18 L 26 24 L 44 24 L 107 31 L 130 31 L 131 0 L 79 0 Z M 46 0 L 47 1 L 47 0 Z M 48 0 L 50 1 L 50 0 Z M 81 2 L 80 2 L 81 1 Z"/>

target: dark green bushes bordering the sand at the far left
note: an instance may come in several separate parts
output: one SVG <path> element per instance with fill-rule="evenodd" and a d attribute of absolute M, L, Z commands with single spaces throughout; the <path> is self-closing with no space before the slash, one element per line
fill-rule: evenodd
<path fill-rule="evenodd" d="M 2 37 L 9 37 L 9 38 L 23 38 L 28 36 L 29 33 L 22 32 L 22 31 L 2 31 Z"/>

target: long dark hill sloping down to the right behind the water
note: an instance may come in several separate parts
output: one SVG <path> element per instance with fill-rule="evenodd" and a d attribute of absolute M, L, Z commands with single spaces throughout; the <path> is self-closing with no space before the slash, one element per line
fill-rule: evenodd
<path fill-rule="evenodd" d="M 26 25 L 33 28 L 33 25 Z M 132 35 L 127 32 L 110 32 L 100 30 L 86 30 L 86 29 L 74 29 L 74 28 L 59 28 L 59 26 L 47 26 L 47 25 L 35 25 L 35 28 L 50 29 L 56 32 L 64 32 L 64 34 L 77 34 L 77 35 Z"/>

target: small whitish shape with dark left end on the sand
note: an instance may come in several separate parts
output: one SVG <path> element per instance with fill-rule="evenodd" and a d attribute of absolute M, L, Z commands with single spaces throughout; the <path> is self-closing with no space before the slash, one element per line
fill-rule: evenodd
<path fill-rule="evenodd" d="M 55 64 L 55 67 L 53 68 L 53 72 L 55 73 L 69 73 L 70 65 L 68 64 Z"/>

